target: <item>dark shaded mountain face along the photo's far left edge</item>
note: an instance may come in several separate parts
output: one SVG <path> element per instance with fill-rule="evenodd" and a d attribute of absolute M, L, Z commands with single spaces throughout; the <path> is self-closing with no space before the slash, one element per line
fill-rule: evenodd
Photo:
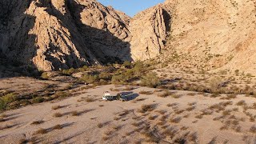
<path fill-rule="evenodd" d="M 36 35 L 29 34 L 35 18 L 25 11 L 31 1 L 0 1 L 0 78 L 26 75 L 35 66 Z M 27 55 L 28 57 L 24 57 Z"/>

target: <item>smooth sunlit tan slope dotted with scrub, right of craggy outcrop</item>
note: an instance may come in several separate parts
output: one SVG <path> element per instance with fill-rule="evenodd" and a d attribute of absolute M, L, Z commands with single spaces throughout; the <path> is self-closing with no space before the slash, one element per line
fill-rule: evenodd
<path fill-rule="evenodd" d="M 170 6 L 172 22 L 165 58 L 176 66 L 204 70 L 255 72 L 255 2 L 184 0 Z"/>

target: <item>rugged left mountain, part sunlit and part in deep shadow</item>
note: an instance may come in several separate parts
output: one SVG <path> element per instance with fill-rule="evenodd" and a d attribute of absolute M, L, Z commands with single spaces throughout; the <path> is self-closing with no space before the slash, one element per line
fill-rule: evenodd
<path fill-rule="evenodd" d="M 7 0 L 0 10 L 0 53 L 18 65 L 58 70 L 130 58 L 130 18 L 96 1 Z"/>

